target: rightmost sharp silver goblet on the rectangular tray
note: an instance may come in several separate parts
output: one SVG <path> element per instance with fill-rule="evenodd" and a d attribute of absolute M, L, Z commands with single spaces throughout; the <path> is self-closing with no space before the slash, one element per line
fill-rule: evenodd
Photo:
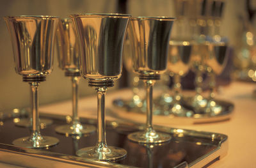
<path fill-rule="evenodd" d="M 129 22 L 128 35 L 131 40 L 132 63 L 135 73 L 145 82 L 147 91 L 146 130 L 128 135 L 128 139 L 143 144 L 168 142 L 169 134 L 156 132 L 152 126 L 153 85 L 166 70 L 168 47 L 174 18 L 134 17 Z"/>

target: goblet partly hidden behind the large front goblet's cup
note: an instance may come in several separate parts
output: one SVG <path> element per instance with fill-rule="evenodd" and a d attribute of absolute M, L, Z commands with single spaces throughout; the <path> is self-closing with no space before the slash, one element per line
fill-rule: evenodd
<path fill-rule="evenodd" d="M 79 44 L 76 32 L 70 19 L 61 19 L 56 33 L 56 44 L 58 61 L 65 76 L 70 77 L 72 82 L 72 122 L 69 125 L 56 127 L 56 132 L 65 135 L 88 134 L 95 132 L 92 125 L 82 125 L 77 116 L 78 84 L 80 79 L 79 71 Z"/>

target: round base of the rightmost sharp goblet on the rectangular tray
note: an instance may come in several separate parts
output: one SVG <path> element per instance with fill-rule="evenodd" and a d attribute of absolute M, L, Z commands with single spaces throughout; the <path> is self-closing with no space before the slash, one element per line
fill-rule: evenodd
<path fill-rule="evenodd" d="M 161 144 L 170 141 L 172 136 L 162 132 L 154 132 L 154 136 L 148 136 L 147 132 L 134 132 L 128 135 L 128 139 L 140 144 Z"/>

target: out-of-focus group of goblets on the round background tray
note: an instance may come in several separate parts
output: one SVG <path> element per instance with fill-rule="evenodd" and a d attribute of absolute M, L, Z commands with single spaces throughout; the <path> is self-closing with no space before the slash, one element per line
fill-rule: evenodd
<path fill-rule="evenodd" d="M 177 20 L 173 24 L 173 33 L 168 43 L 168 74 L 173 79 L 173 94 L 164 92 L 154 102 L 154 114 L 174 115 L 186 118 L 198 118 L 220 115 L 223 107 L 214 99 L 216 89 L 216 75 L 220 75 L 227 64 L 227 39 L 220 35 L 220 23 L 224 1 L 219 0 L 176 0 L 175 13 Z M 195 8 L 189 8 L 195 6 Z M 129 32 L 128 32 L 129 34 Z M 132 38 L 127 39 L 132 40 Z M 127 49 L 124 57 L 127 62 L 134 63 L 136 72 L 137 60 L 131 42 L 125 42 Z M 129 46 L 128 46 L 129 45 Z M 131 50 L 129 52 L 129 50 Z M 129 59 L 128 59 L 129 58 Z M 156 59 L 154 59 L 155 61 Z M 146 63 L 140 61 L 139 63 Z M 155 62 L 157 63 L 157 62 Z M 130 64 L 129 64 L 130 65 Z M 158 63 L 158 65 L 161 65 Z M 155 66 L 158 66 L 155 65 Z M 132 66 L 132 65 L 131 65 Z M 195 96 L 183 96 L 180 77 L 184 77 L 189 70 L 195 72 Z M 203 74 L 209 77 L 209 96 L 202 95 Z M 132 103 L 134 100 L 139 103 Z M 124 106 L 129 111 L 143 113 L 143 100 L 138 95 L 132 101 L 119 100 L 114 105 Z M 159 112 L 161 111 L 161 112 Z"/>

